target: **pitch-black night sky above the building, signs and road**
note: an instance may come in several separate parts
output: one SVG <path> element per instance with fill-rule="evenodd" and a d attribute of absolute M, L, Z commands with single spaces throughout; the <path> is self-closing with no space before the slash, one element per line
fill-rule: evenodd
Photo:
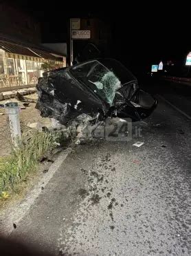
<path fill-rule="evenodd" d="M 67 8 L 61 7 L 59 1 L 51 4 L 16 0 L 15 3 L 41 22 L 43 41 L 66 41 L 69 17 L 106 19 L 113 32 L 111 56 L 133 70 L 160 60 L 183 63 L 191 47 L 190 12 L 186 5 L 175 6 L 175 1 L 169 6 L 162 1 L 151 1 L 147 6 L 141 6 L 138 1 L 127 2 L 126 6 L 113 2 L 109 7 L 99 5 L 98 1 L 89 1 L 83 6 L 81 1 L 72 1 L 67 3 Z"/>

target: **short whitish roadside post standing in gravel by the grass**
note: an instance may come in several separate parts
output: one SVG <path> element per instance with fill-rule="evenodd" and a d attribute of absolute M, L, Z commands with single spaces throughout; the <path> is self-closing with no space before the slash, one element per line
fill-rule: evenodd
<path fill-rule="evenodd" d="M 16 145 L 18 140 L 21 139 L 21 126 L 19 120 L 20 108 L 17 102 L 9 102 L 5 104 L 5 110 L 9 116 L 12 143 Z"/>

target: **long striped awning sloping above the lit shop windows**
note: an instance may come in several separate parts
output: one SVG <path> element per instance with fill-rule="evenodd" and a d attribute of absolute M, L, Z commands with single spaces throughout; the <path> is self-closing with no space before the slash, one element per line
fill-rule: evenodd
<path fill-rule="evenodd" d="M 0 48 L 5 50 L 5 52 L 7 52 L 8 54 L 25 55 L 28 57 L 63 61 L 62 57 L 56 57 L 54 55 L 54 52 L 48 52 L 47 50 L 40 50 L 37 48 L 32 48 L 30 46 L 19 45 L 19 43 L 12 43 L 0 40 Z"/>

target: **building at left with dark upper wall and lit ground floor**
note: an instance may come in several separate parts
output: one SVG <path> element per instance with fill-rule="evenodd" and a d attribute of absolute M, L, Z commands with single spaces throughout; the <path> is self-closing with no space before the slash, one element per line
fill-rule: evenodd
<path fill-rule="evenodd" d="M 5 1 L 0 13 L 0 88 L 34 85 L 48 67 L 66 66 L 66 55 L 40 44 L 38 21 Z"/>

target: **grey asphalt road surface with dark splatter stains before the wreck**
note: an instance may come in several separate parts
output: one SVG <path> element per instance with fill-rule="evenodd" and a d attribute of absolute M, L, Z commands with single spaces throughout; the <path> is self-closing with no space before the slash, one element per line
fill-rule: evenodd
<path fill-rule="evenodd" d="M 190 255 L 191 121 L 159 100 L 132 131 L 129 141 L 76 146 L 15 221 L 17 246 L 39 255 Z"/>

